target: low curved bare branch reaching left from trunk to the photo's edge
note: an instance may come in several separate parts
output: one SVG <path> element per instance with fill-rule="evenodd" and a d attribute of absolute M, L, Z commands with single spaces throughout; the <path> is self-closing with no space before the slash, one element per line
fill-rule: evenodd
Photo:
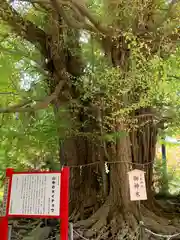
<path fill-rule="evenodd" d="M 28 105 L 32 103 L 33 100 L 26 100 L 8 108 L 0 108 L 0 113 L 33 112 L 40 109 L 45 109 L 58 97 L 63 85 L 64 81 L 60 81 L 56 86 L 55 91 L 50 96 L 45 97 L 43 101 L 37 102 L 32 107 L 29 107 Z"/>

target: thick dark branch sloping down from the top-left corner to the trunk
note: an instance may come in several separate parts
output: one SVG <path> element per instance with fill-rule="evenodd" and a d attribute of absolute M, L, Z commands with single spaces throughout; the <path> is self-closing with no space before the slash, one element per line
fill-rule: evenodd
<path fill-rule="evenodd" d="M 0 0 L 0 18 L 12 27 L 14 32 L 37 45 L 40 44 L 41 51 L 45 49 L 46 34 L 31 21 L 25 20 L 13 9 L 6 0 Z"/>

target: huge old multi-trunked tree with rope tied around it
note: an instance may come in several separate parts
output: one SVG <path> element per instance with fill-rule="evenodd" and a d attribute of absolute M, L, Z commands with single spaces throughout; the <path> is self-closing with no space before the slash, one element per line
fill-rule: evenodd
<path fill-rule="evenodd" d="M 72 168 L 71 213 L 75 220 L 82 220 L 77 225 L 91 228 L 86 232 L 88 237 L 106 232 L 104 238 L 110 238 L 126 226 L 128 232 L 136 232 L 143 214 L 151 229 L 175 231 L 172 226 L 160 228 L 161 224 L 164 227 L 169 223 L 161 219 L 153 199 L 157 129 L 163 119 L 157 108 L 152 107 L 153 101 L 145 99 L 152 97 L 152 86 L 163 75 L 162 61 L 176 50 L 180 34 L 179 1 L 30 0 L 23 5 L 26 10 L 21 9 L 22 4 L 1 0 L 0 18 L 11 27 L 12 34 L 30 42 L 41 53 L 40 67 L 48 73 L 45 84 L 49 95 L 36 104 L 28 100 L 1 112 L 33 112 L 52 104 L 58 123 L 62 117 L 59 109 L 66 108 L 65 115 L 72 119 L 77 131 L 63 139 L 59 136 L 61 165 L 98 162 L 91 167 Z M 29 11 L 31 14 L 27 14 Z M 36 17 L 32 17 L 33 13 Z M 104 75 L 98 75 L 97 59 L 93 60 L 94 65 L 85 62 L 82 45 L 86 41 L 95 45 L 92 51 L 99 50 L 92 56 L 106 62 Z M 153 75 L 156 60 L 159 66 Z M 93 65 L 94 75 L 89 74 L 89 65 Z M 97 78 L 99 85 L 87 86 L 88 77 L 92 83 Z M 116 92 L 121 87 L 123 90 Z M 88 90 L 92 94 L 85 97 Z M 105 132 L 118 137 L 107 144 Z M 106 162 L 113 162 L 108 166 L 108 175 Z M 129 200 L 127 172 L 131 167 L 142 166 L 148 201 L 141 206 L 140 213 L 139 206 Z"/>

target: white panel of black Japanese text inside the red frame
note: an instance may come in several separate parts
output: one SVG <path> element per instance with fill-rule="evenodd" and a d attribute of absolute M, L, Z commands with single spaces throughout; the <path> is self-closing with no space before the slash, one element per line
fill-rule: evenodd
<path fill-rule="evenodd" d="M 60 173 L 13 174 L 9 214 L 60 215 Z"/>

